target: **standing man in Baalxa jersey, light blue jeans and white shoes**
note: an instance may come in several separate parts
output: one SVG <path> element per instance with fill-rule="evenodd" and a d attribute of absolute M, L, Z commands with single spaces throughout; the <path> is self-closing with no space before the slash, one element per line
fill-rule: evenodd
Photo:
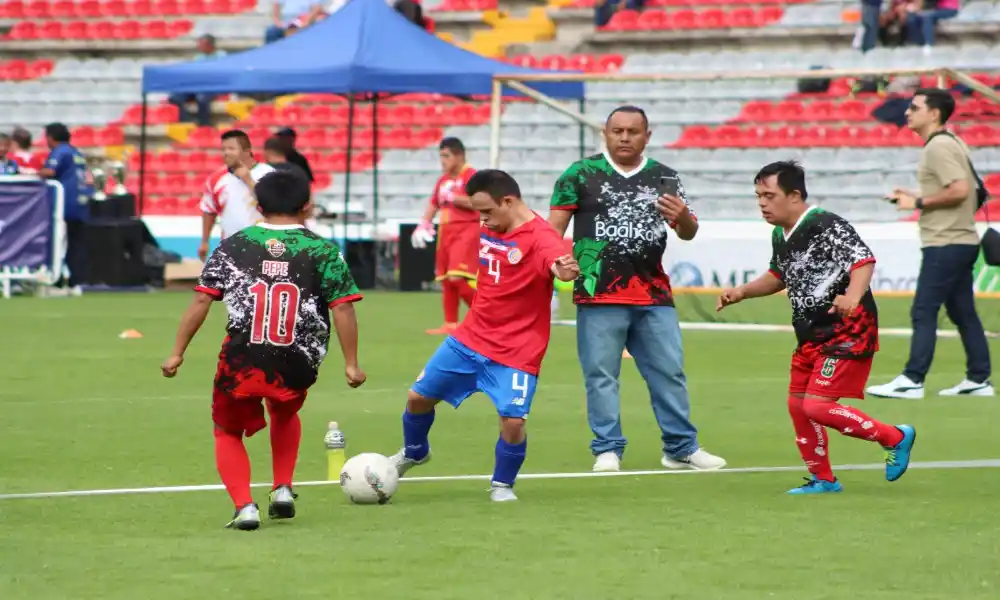
<path fill-rule="evenodd" d="M 690 240 L 698 221 L 677 172 L 643 155 L 650 131 L 642 109 L 614 110 L 604 137 L 606 152 L 573 163 L 556 182 L 549 215 L 560 233 L 574 220 L 582 274 L 573 302 L 594 470 L 618 471 L 627 444 L 618 394 L 625 348 L 649 387 L 663 466 L 720 469 L 726 461 L 698 446 L 689 417 L 680 325 L 663 270 L 668 229 Z"/>

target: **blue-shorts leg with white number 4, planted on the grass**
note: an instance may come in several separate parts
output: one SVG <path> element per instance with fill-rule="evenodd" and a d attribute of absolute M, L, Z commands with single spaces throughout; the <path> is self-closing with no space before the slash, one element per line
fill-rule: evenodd
<path fill-rule="evenodd" d="M 538 377 L 487 360 L 479 372 L 477 387 L 493 401 L 500 415 L 500 436 L 490 484 L 494 502 L 517 500 L 514 482 L 528 450 L 524 423 L 531 412 Z"/>

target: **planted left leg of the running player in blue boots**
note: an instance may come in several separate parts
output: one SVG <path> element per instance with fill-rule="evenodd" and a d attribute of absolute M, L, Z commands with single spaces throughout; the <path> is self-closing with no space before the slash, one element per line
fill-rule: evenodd
<path fill-rule="evenodd" d="M 795 445 L 799 448 L 802 462 L 806 464 L 811 477 L 805 485 L 788 490 L 789 494 L 822 494 L 840 492 L 843 487 L 833 475 L 830 466 L 829 439 L 826 428 L 816 423 L 806 414 L 803 402 L 809 380 L 813 374 L 814 355 L 806 355 L 796 350 L 792 354 L 792 365 L 788 384 L 788 416 L 795 429 Z"/>

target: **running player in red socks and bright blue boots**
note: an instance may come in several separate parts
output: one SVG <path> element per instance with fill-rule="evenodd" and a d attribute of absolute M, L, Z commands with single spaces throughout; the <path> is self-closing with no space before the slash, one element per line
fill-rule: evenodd
<path fill-rule="evenodd" d="M 794 162 L 767 165 L 754 178 L 764 220 L 774 225 L 767 273 L 727 289 L 717 310 L 747 298 L 788 292 L 798 346 L 792 354 L 788 412 L 799 453 L 812 477 L 790 494 L 839 492 L 826 431 L 885 448 L 885 478 L 896 481 L 910 464 L 916 431 L 892 426 L 840 403 L 865 397 L 878 350 L 878 312 L 869 286 L 875 257 L 850 223 L 806 204 L 805 172 Z"/>

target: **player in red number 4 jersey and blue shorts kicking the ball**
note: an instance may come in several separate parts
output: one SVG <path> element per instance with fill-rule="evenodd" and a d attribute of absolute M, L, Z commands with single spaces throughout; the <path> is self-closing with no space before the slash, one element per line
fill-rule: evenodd
<path fill-rule="evenodd" d="M 521 200 L 507 173 L 479 171 L 466 192 L 482 221 L 476 301 L 410 388 L 404 446 L 392 459 L 400 475 L 426 463 L 437 404 L 458 408 L 483 392 L 501 421 L 490 498 L 507 502 L 517 500 L 514 480 L 528 447 L 524 420 L 549 345 L 553 276 L 572 281 L 580 268 L 565 254 L 562 236 Z"/>

